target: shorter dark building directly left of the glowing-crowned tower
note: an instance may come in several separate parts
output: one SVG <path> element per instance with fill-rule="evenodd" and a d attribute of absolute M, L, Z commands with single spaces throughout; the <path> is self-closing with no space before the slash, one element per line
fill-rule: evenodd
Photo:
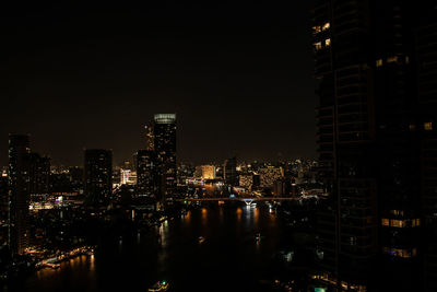
<path fill-rule="evenodd" d="M 139 150 L 137 153 L 137 194 L 139 197 L 155 196 L 155 153 L 150 150 Z"/>

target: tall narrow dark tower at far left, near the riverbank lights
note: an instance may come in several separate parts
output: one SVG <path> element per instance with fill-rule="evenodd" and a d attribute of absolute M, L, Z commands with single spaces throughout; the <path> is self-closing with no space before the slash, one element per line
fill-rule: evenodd
<path fill-rule="evenodd" d="M 9 246 L 23 254 L 29 240 L 29 153 L 28 135 L 9 136 Z"/>

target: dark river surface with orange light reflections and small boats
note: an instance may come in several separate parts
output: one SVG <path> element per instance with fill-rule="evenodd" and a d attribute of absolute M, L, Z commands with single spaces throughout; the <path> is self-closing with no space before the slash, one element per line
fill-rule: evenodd
<path fill-rule="evenodd" d="M 39 270 L 9 291 L 147 291 L 157 280 L 169 291 L 270 291 L 284 230 L 263 205 L 199 208 L 152 232 L 105 242 L 95 256 Z"/>

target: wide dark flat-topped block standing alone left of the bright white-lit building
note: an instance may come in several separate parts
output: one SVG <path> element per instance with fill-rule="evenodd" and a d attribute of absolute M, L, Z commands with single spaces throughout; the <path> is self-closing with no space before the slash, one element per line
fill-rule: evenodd
<path fill-rule="evenodd" d="M 86 149 L 84 164 L 84 192 L 93 206 L 107 202 L 113 194 L 113 152 Z"/>

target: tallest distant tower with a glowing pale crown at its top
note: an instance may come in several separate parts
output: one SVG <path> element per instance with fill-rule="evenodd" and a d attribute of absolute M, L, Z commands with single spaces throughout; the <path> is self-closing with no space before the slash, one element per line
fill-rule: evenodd
<path fill-rule="evenodd" d="M 176 114 L 156 114 L 153 125 L 157 199 L 166 202 L 176 191 Z"/>

